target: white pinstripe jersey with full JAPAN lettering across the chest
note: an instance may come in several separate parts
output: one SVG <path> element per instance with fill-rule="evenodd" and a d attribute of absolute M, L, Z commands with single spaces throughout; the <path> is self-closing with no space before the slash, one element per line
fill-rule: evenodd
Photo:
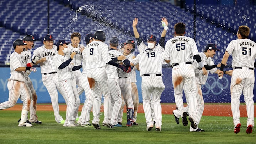
<path fill-rule="evenodd" d="M 45 62 L 40 63 L 41 73 L 56 72 L 53 61 L 53 58 L 56 54 L 58 54 L 56 45 L 53 45 L 52 49 L 46 49 L 45 46 L 41 46 L 34 50 L 32 59 L 34 59 L 36 55 L 40 56 L 41 58 L 46 58 Z"/>

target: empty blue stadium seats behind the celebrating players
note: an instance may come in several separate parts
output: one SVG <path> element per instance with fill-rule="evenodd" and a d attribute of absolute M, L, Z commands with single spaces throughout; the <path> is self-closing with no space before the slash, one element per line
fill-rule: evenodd
<path fill-rule="evenodd" d="M 135 40 L 132 28 L 135 17 L 139 19 L 137 29 L 144 41 L 151 34 L 156 35 L 159 40 L 163 29 L 161 17 L 166 17 L 169 23 L 166 41 L 173 37 L 173 26 L 177 22 L 184 22 L 186 36 L 194 37 L 191 5 L 187 6 L 188 11 L 185 11 L 167 2 L 69 0 L 69 4 L 70 7 L 67 6 L 68 1 L 63 0 L 50 2 L 49 33 L 55 40 L 70 41 L 71 33 L 80 32 L 81 44 L 85 45 L 84 36 L 97 30 L 106 32 L 107 44 L 112 36 L 117 36 L 121 43 L 128 39 Z M 202 52 L 207 43 L 217 44 L 221 51 L 217 52 L 214 61 L 219 63 L 228 43 L 236 39 L 234 30 L 236 31 L 241 22 L 246 22 L 244 24 L 256 29 L 255 8 L 246 6 L 234 9 L 216 6 L 213 9 L 208 5 L 198 5 L 195 33 L 198 51 Z M 42 45 L 42 37 L 48 33 L 47 1 L 1 0 L 0 9 L 0 64 L 9 62 L 9 56 L 13 51 L 12 41 L 17 38 L 32 34 L 38 40 L 36 47 Z M 231 12 L 228 11 L 230 9 Z M 240 12 L 239 16 L 234 15 L 234 12 Z M 253 38 L 255 35 L 256 31 L 251 32 L 250 36 Z M 231 60 L 228 64 L 231 65 Z"/>

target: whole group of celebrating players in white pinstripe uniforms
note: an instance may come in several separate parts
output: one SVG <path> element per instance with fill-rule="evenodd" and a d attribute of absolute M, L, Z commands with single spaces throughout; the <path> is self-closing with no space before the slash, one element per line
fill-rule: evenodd
<path fill-rule="evenodd" d="M 103 31 L 86 34 L 86 46 L 79 44 L 81 34 L 71 34 L 71 43 L 56 40 L 47 34 L 43 45 L 36 48 L 31 56 L 29 49 L 34 47 L 34 37 L 26 35 L 13 43 L 14 52 L 10 56 L 11 76 L 8 79 L 9 99 L 0 104 L 0 110 L 16 104 L 18 98 L 23 101 L 21 118 L 18 126 L 31 127 L 42 124 L 36 115 L 37 95 L 28 77 L 36 72 L 33 65 L 39 64 L 41 76 L 54 110 L 55 121 L 64 127 L 122 127 L 124 105 L 126 105 L 125 126 L 137 126 L 138 90 L 136 70 L 142 77 L 143 109 L 146 130 L 162 131 L 161 94 L 165 89 L 162 79 L 162 65 L 172 67 L 172 84 L 177 106 L 173 110 L 177 124 L 182 119 L 183 126 L 190 122 L 190 132 L 204 132 L 199 123 L 204 110 L 202 85 L 206 83 L 209 73 L 231 76 L 231 110 L 233 114 L 234 133 L 240 132 L 240 96 L 243 93 L 247 107 L 246 133 L 252 133 L 254 126 L 254 68 L 256 43 L 248 39 L 250 29 L 240 26 L 237 40 L 232 40 L 225 50 L 221 63 L 215 65 L 212 58 L 220 49 L 216 44 L 206 44 L 205 50 L 198 52 L 194 39 L 186 37 L 186 26 L 179 22 L 174 25 L 174 37 L 165 43 L 168 21 L 161 18 L 163 31 L 159 43 L 155 35 L 149 35 L 146 44 L 137 31 L 138 18 L 132 22 L 135 39 L 125 40 L 118 49 L 119 39 L 112 37 L 110 44 L 105 44 Z M 134 55 L 137 41 L 138 55 Z M 228 57 L 232 55 L 233 70 L 224 71 Z M 218 69 L 219 68 L 219 69 Z M 81 70 L 80 70 L 81 69 Z M 187 106 L 183 104 L 183 91 Z M 59 113 L 58 92 L 65 99 L 65 120 Z M 79 95 L 85 92 L 86 100 L 78 115 Z M 100 124 L 101 99 L 104 97 L 104 120 Z M 90 112 L 93 119 L 90 122 Z M 30 118 L 28 119 L 28 113 Z M 188 118 L 187 118 L 188 117 Z"/>

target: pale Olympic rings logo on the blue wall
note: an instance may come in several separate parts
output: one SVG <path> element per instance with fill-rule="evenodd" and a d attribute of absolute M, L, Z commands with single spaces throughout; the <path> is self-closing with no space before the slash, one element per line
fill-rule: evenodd
<path fill-rule="evenodd" d="M 229 80 L 226 77 L 219 79 L 213 76 L 208 76 L 207 81 L 210 81 L 211 83 L 206 82 L 204 85 L 202 85 L 203 95 L 207 95 L 210 92 L 212 92 L 214 95 L 219 95 L 222 93 L 223 89 L 226 89 L 229 86 Z"/>

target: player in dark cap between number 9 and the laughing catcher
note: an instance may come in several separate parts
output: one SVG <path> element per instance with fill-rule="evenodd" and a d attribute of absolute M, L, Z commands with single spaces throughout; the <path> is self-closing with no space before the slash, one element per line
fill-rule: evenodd
<path fill-rule="evenodd" d="M 110 40 L 110 49 L 108 50 L 108 56 L 113 61 L 122 61 L 126 59 L 126 57 L 119 51 L 117 51 L 119 40 L 117 37 L 112 37 Z M 122 127 L 121 124 L 118 123 L 118 114 L 122 104 L 122 96 L 121 96 L 121 89 L 118 82 L 118 73 L 117 67 L 113 65 L 107 64 L 106 72 L 109 81 L 109 91 L 111 95 L 111 105 L 112 105 L 112 115 L 111 115 L 111 123 L 115 127 Z"/>

